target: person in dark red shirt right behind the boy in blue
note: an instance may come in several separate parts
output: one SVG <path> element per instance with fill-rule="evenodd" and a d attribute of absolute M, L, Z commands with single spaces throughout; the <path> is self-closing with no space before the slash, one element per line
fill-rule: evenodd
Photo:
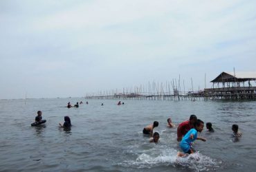
<path fill-rule="evenodd" d="M 179 125 L 179 127 L 177 128 L 177 141 L 178 142 L 181 141 L 183 136 L 185 136 L 185 134 L 188 133 L 188 131 L 190 131 L 190 129 L 194 128 L 194 122 L 196 122 L 196 120 L 197 120 L 197 117 L 195 115 L 191 115 L 190 120 L 186 120 Z"/>

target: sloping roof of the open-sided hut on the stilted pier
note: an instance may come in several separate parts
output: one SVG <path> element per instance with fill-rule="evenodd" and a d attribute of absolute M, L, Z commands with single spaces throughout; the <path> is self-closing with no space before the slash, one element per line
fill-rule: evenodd
<path fill-rule="evenodd" d="M 248 80 L 256 80 L 256 72 L 221 72 L 217 78 L 210 81 L 212 83 L 225 82 L 244 82 Z"/>

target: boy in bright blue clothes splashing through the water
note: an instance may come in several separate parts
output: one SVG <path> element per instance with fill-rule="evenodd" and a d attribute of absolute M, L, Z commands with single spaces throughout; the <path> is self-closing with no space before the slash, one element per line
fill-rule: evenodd
<path fill-rule="evenodd" d="M 185 134 L 185 136 L 182 138 L 180 142 L 180 147 L 183 152 L 178 152 L 178 156 L 184 156 L 186 154 L 194 153 L 194 149 L 191 147 L 192 142 L 194 140 L 202 140 L 203 142 L 206 141 L 205 138 L 199 138 L 197 137 L 197 133 L 203 131 L 203 121 L 202 120 L 196 120 L 194 123 L 194 129 L 190 129 L 188 133 Z"/>

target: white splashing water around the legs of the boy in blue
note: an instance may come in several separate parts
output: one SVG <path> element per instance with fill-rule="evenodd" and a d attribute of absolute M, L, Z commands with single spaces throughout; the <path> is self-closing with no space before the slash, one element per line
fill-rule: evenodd
<path fill-rule="evenodd" d="M 177 157 L 177 151 L 175 149 L 168 149 L 158 155 L 141 153 L 136 160 L 125 160 L 118 165 L 138 169 L 151 169 L 156 166 L 173 166 L 181 169 L 191 169 L 192 171 L 209 171 L 219 169 L 221 163 L 221 161 L 214 160 L 201 153 L 193 153 L 185 158 L 180 158 Z"/>

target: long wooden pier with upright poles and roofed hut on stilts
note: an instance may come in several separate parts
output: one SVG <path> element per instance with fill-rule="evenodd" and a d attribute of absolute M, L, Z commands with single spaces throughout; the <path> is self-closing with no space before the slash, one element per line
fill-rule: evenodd
<path fill-rule="evenodd" d="M 252 81 L 256 80 L 256 72 L 222 72 L 217 78 L 212 80 L 212 88 L 185 92 L 183 80 L 183 91 L 181 91 L 180 78 L 166 83 L 149 83 L 147 87 L 124 88 L 111 91 L 98 92 L 97 94 L 86 94 L 86 99 L 134 99 L 134 100 L 256 100 L 256 86 Z M 192 81 L 192 79 L 191 79 Z M 256 82 L 255 82 L 256 83 Z"/>

